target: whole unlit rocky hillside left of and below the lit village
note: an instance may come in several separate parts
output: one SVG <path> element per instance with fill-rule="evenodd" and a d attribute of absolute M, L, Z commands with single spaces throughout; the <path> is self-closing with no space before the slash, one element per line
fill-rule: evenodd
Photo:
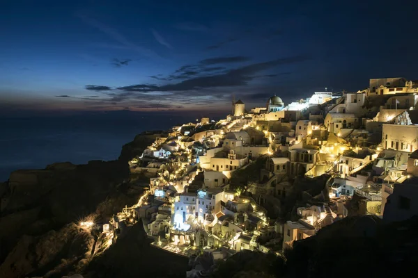
<path fill-rule="evenodd" d="M 10 174 L 8 182 L 0 183 L 0 277 L 63 277 L 87 267 L 93 277 L 137 277 L 144 270 L 183 277 L 187 259 L 150 247 L 140 225 L 102 256 L 95 253 L 88 266 L 95 232 L 77 225 L 91 213 L 106 221 L 137 203 L 143 190 L 138 177 L 131 180 L 127 161 L 160 136 L 162 132 L 136 136 L 123 146 L 118 161 L 54 163 Z M 161 258 L 169 268 L 154 270 Z"/>

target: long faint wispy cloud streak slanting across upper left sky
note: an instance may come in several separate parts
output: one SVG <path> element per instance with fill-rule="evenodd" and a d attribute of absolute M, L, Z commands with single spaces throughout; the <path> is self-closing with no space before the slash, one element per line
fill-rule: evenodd
<path fill-rule="evenodd" d="M 147 56 L 150 58 L 160 58 L 159 55 L 157 55 L 154 51 L 147 49 L 145 47 L 141 47 L 137 44 L 134 44 L 133 42 L 131 42 L 130 40 L 128 40 L 127 38 L 125 38 L 124 35 L 122 35 L 121 33 L 119 33 L 116 28 L 112 28 L 110 26 L 107 26 L 105 24 L 102 24 L 101 22 L 98 22 L 98 20 L 93 19 L 91 17 L 88 17 L 82 13 L 76 13 L 75 14 L 77 17 L 79 17 L 80 19 L 83 20 L 83 22 L 85 22 L 86 24 L 97 28 L 99 31 L 101 31 L 102 33 L 106 34 L 109 36 L 109 38 L 115 40 L 116 42 L 118 42 L 119 44 L 121 44 L 122 47 L 127 47 L 128 49 L 132 49 L 133 51 L 137 51 L 139 54 L 143 55 L 143 56 Z"/>

